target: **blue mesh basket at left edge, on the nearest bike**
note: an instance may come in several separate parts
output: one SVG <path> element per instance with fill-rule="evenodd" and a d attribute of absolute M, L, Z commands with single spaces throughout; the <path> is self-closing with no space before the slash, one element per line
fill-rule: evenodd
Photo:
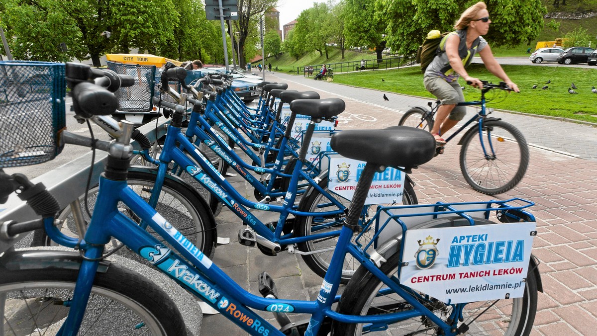
<path fill-rule="evenodd" d="M 0 61 L 0 168 L 50 161 L 66 126 L 63 63 Z"/>

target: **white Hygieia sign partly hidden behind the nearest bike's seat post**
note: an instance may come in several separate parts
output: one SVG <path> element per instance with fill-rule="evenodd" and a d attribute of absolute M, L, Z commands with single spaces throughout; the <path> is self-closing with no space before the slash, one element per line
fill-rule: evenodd
<path fill-rule="evenodd" d="M 347 159 L 330 158 L 330 180 L 328 189 L 346 199 L 352 199 L 356 183 L 365 169 L 365 162 Z M 377 172 L 371 183 L 365 204 L 401 204 L 404 195 L 405 174 L 395 168 L 386 168 Z"/>

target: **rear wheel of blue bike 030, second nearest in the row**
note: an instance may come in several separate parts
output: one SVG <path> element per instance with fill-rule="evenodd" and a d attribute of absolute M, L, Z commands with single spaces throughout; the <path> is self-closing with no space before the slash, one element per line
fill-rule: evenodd
<path fill-rule="evenodd" d="M 324 189 L 326 192 L 328 191 L 327 184 L 327 177 L 323 178 L 319 182 L 319 186 L 322 187 L 322 189 Z M 347 209 L 350 205 L 350 201 L 345 198 L 342 198 L 331 192 L 329 192 L 329 195 L 340 202 L 340 204 L 344 206 L 344 209 Z M 401 202 L 404 205 L 418 204 L 417 196 L 414 193 L 413 186 L 411 186 L 411 184 L 408 182 L 404 183 L 404 195 L 402 196 Z M 368 220 L 372 215 L 374 215 L 377 209 L 377 205 L 366 207 L 367 215 L 361 217 L 361 221 Z M 337 206 L 333 205 L 327 196 L 319 193 L 316 190 L 313 190 L 313 192 L 310 193 L 306 199 L 304 199 L 304 202 L 301 201 L 300 205 L 298 206 L 298 210 L 313 212 L 315 214 L 309 217 L 297 217 L 295 220 L 296 224 L 294 227 L 294 235 L 297 237 L 303 237 L 340 230 L 344 224 L 346 214 L 342 213 L 333 216 L 316 215 L 317 212 L 333 211 L 334 209 L 337 209 Z M 373 235 L 374 232 L 373 229 L 371 229 L 370 232 L 365 232 L 361 239 L 364 239 L 365 242 L 368 242 Z M 307 266 L 309 266 L 313 272 L 322 278 L 324 278 L 328 267 L 330 267 L 332 255 L 334 254 L 334 248 L 338 243 L 337 241 L 338 236 L 331 236 L 328 238 L 313 239 L 303 243 L 298 243 L 298 249 L 300 249 L 300 251 L 313 252 L 312 254 L 301 255 L 301 257 L 303 257 L 303 260 Z M 341 282 L 347 283 L 359 266 L 361 266 L 361 263 L 352 255 L 347 254 L 342 269 Z"/>

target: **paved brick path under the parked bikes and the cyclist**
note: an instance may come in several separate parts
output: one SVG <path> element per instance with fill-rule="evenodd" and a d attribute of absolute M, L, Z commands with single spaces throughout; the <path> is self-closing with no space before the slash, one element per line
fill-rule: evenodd
<path fill-rule="evenodd" d="M 294 90 L 318 91 L 322 98 L 343 98 L 347 117 L 338 125 L 341 130 L 396 125 L 400 111 L 426 103 L 420 98 L 389 93 L 386 102 L 379 91 L 279 73 L 267 73 L 266 79 L 288 82 Z M 417 183 L 419 202 L 512 197 L 536 202 L 532 212 L 537 218 L 538 236 L 533 253 L 541 261 L 544 292 L 539 294 L 533 335 L 593 335 L 592 328 L 597 325 L 597 128 L 510 113 L 495 115 L 516 125 L 534 144 L 530 166 L 521 183 L 503 195 L 490 197 L 475 192 L 461 176 L 459 147 L 448 144 L 444 155 L 411 175 Z M 236 182 L 236 186 L 245 190 L 247 196 L 253 195 L 253 190 L 242 181 Z M 245 248 L 236 238 L 242 227 L 240 221 L 228 211 L 223 211 L 217 220 L 219 236 L 230 237 L 232 242 L 217 248 L 215 260 L 233 279 L 257 294 L 257 275 L 265 270 L 276 280 L 282 297 L 314 300 L 321 278 L 313 275 L 300 256 L 267 257 L 257 248 Z M 261 315 L 271 317 L 269 313 Z M 239 334 L 239 329 L 222 316 L 204 316 L 202 334 L 216 333 Z"/>

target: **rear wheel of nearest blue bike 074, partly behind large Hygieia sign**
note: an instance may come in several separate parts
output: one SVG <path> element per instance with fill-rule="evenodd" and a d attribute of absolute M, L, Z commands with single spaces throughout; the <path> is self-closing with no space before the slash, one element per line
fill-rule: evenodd
<path fill-rule="evenodd" d="M 493 223 L 487 220 L 478 221 L 481 224 Z M 428 225 L 426 227 L 470 225 L 469 222 L 464 220 L 462 217 L 456 220 L 444 218 L 441 220 L 430 221 L 429 223 L 432 225 Z M 397 244 L 397 246 L 399 249 L 401 245 Z M 401 253 L 400 251 L 397 251 L 391 257 L 387 258 L 387 262 L 380 267 L 380 270 L 386 275 L 395 274 L 399 263 L 401 263 Z M 533 266 L 532 263 L 531 266 Z M 530 334 L 537 312 L 537 284 L 537 273 L 533 272 L 531 267 L 529 267 L 524 297 L 513 298 L 509 300 L 498 300 L 496 305 L 491 307 L 491 309 L 496 309 L 496 315 L 494 315 L 493 320 L 488 319 L 488 316 L 491 317 L 491 313 L 484 312 L 484 310 L 494 301 L 487 301 L 482 306 L 478 306 L 479 303 L 477 302 L 475 305 L 469 307 L 469 309 L 472 309 L 471 312 L 490 314 L 484 315 L 484 318 L 479 319 L 478 323 L 470 325 L 469 333 L 475 335 L 497 335 L 503 332 L 504 335 L 511 336 L 527 336 Z M 398 295 L 378 295 L 381 285 L 383 285 L 381 280 L 368 272 L 365 267 L 359 268 L 353 276 L 353 279 L 346 285 L 343 295 L 338 303 L 337 312 L 349 315 L 378 315 L 383 314 L 384 312 L 395 312 L 397 309 L 405 309 L 410 306 L 405 304 L 404 299 Z M 376 300 L 376 302 L 373 302 L 374 300 Z M 447 306 L 438 300 L 434 301 L 432 298 L 430 298 L 429 302 L 433 303 L 433 311 L 436 313 L 436 315 L 441 314 L 438 316 L 442 316 L 444 319 L 447 319 L 450 316 L 449 310 L 452 309 L 451 306 Z M 506 305 L 504 305 L 504 303 L 506 303 Z M 509 303 L 512 303 L 511 307 L 508 307 Z M 465 306 L 463 312 L 464 323 L 469 322 L 477 317 L 466 309 L 467 307 Z M 511 317 L 508 319 L 506 316 L 504 316 L 509 312 L 514 312 L 512 315 L 513 318 Z M 389 325 L 388 327 L 392 330 L 392 335 L 401 335 L 399 333 L 400 331 L 404 331 L 404 334 L 408 335 L 438 335 L 438 332 L 435 328 L 424 325 L 423 321 L 424 319 L 422 319 L 420 316 L 416 316 L 411 319 L 399 321 L 396 324 Z M 508 321 L 509 323 L 504 323 Z M 503 329 L 501 332 L 498 329 L 487 330 L 490 326 L 493 326 L 494 328 L 502 327 Z M 337 321 L 333 322 L 332 328 L 333 335 L 361 335 L 362 332 L 362 328 L 359 325 L 340 323 Z M 371 332 L 370 334 L 377 335 L 380 333 Z M 387 331 L 383 331 L 383 335 L 387 335 Z"/>

